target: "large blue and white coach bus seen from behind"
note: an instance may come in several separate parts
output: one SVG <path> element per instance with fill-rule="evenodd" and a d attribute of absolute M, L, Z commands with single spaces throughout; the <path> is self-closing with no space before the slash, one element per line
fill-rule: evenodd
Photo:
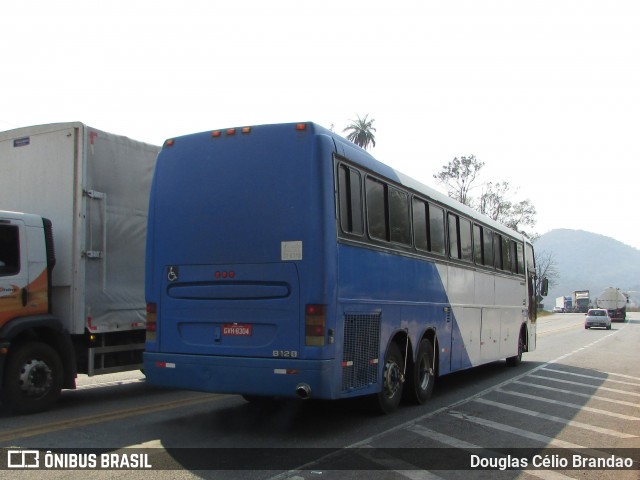
<path fill-rule="evenodd" d="M 155 385 L 388 413 L 536 347 L 531 243 L 313 123 L 167 140 L 146 255 Z"/>

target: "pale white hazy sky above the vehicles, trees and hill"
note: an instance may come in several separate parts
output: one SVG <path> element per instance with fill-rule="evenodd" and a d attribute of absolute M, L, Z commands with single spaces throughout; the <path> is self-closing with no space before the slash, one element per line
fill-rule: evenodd
<path fill-rule="evenodd" d="M 81 121 L 160 145 L 229 126 L 375 119 L 436 186 L 486 163 L 535 231 L 640 248 L 638 0 L 9 0 L 0 130 Z M 1 172 L 0 172 L 1 174 Z"/>

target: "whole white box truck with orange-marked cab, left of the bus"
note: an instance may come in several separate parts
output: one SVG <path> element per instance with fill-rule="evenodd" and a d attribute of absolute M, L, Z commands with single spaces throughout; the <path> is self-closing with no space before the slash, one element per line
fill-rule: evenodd
<path fill-rule="evenodd" d="M 160 148 L 82 123 L 0 132 L 0 402 L 49 408 L 79 373 L 141 368 Z"/>

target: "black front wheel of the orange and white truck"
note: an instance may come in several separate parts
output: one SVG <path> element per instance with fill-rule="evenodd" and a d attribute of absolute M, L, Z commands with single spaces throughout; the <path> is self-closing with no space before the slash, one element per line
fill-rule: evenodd
<path fill-rule="evenodd" d="M 62 361 L 58 353 L 42 342 L 14 347 L 8 359 L 2 388 L 2 402 L 16 413 L 47 410 L 62 390 Z"/>

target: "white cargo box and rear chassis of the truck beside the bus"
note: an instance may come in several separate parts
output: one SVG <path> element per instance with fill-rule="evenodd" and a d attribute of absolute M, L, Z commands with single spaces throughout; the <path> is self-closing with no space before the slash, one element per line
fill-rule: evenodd
<path fill-rule="evenodd" d="M 78 122 L 0 132 L 0 209 L 51 221 L 49 313 L 68 333 L 79 373 L 140 367 L 147 210 L 159 150 Z M 13 341 L 2 337 L 6 317 L 0 342 L 17 344 L 15 326 Z"/>

